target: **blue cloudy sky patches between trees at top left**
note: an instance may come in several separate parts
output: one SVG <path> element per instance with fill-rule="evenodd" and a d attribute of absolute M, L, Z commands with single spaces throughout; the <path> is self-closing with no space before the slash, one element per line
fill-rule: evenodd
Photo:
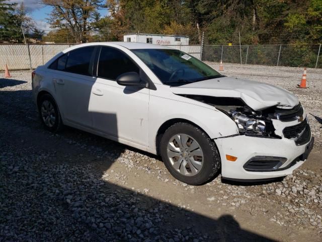
<path fill-rule="evenodd" d="M 40 4 L 40 0 L 8 0 L 10 3 L 17 3 L 18 5 L 22 2 L 25 5 L 25 8 L 30 13 L 30 17 L 35 20 L 38 29 L 44 30 L 46 33 L 51 30 L 50 25 L 47 23 L 46 18 L 48 18 L 51 7 L 44 6 Z M 107 15 L 107 11 L 105 10 L 99 10 L 99 13 L 102 16 Z"/>

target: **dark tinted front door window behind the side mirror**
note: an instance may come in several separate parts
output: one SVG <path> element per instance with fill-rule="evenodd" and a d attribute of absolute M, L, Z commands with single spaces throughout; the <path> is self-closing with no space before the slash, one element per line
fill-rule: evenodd
<path fill-rule="evenodd" d="M 98 64 L 98 77 L 115 81 L 119 75 L 126 72 L 139 74 L 140 71 L 132 59 L 123 51 L 103 46 Z"/>

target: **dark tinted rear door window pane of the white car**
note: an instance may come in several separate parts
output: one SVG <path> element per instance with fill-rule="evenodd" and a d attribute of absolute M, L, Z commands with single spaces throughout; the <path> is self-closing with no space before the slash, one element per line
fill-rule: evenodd
<path fill-rule="evenodd" d="M 65 71 L 91 76 L 92 70 L 90 70 L 90 68 L 92 65 L 90 64 L 94 49 L 95 46 L 91 46 L 70 51 L 68 53 Z"/>

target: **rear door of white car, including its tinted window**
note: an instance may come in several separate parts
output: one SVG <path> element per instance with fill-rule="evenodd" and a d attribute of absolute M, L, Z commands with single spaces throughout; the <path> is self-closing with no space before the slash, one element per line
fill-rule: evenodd
<path fill-rule="evenodd" d="M 66 57 L 63 57 L 65 66 L 62 67 L 63 62 L 58 62 L 58 71 L 53 78 L 64 119 L 86 127 L 93 125 L 89 103 L 95 82 L 92 71 L 96 49 L 96 46 L 89 46 L 66 53 Z"/>

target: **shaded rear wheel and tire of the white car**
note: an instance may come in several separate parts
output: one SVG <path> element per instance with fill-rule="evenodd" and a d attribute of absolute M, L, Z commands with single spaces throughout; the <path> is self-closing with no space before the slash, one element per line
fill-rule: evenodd
<path fill-rule="evenodd" d="M 38 102 L 38 111 L 41 123 L 50 132 L 59 132 L 62 127 L 62 120 L 55 100 L 49 94 L 44 94 Z"/>

